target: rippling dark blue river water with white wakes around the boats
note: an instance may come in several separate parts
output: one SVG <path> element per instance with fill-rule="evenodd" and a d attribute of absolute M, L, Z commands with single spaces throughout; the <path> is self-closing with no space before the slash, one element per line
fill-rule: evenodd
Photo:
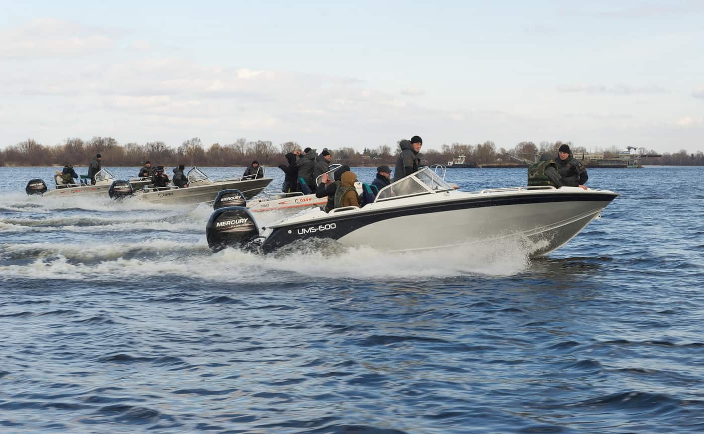
<path fill-rule="evenodd" d="M 208 207 L 25 196 L 52 171 L 0 167 L 0 433 L 704 431 L 704 167 L 590 170 L 622 196 L 539 260 L 213 254 Z"/>

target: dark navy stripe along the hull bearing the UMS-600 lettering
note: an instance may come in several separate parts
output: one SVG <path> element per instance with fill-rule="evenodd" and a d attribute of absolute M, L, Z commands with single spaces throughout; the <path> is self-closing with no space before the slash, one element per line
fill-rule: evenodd
<path fill-rule="evenodd" d="M 560 195 L 532 194 L 520 197 L 508 196 L 498 198 L 462 198 L 448 200 L 440 203 L 427 203 L 422 205 L 408 205 L 403 208 L 393 208 L 388 210 L 375 210 L 372 212 L 361 212 L 353 215 L 332 215 L 312 222 L 299 222 L 281 226 L 272 230 L 270 236 L 264 241 L 262 248 L 265 252 L 276 250 L 294 241 L 308 238 L 332 238 L 338 240 L 343 236 L 356 231 L 360 227 L 376 222 L 407 215 L 421 215 L 430 212 L 444 212 L 455 210 L 466 210 L 470 208 L 486 208 L 492 206 L 524 205 L 533 203 L 558 203 L 558 202 L 610 202 L 618 196 L 608 193 L 565 193 Z M 362 208 L 364 209 L 364 208 Z M 334 228 L 318 231 L 319 227 L 326 228 L 329 224 L 335 224 Z M 307 231 L 300 234 L 304 229 L 315 228 L 315 232 Z"/>

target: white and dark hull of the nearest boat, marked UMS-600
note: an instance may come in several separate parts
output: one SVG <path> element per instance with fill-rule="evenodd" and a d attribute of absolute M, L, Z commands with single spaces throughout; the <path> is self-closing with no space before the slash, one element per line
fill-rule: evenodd
<path fill-rule="evenodd" d="M 332 238 L 343 245 L 369 245 L 389 251 L 451 248 L 511 239 L 531 256 L 545 255 L 570 241 L 596 218 L 616 193 L 603 191 L 524 191 L 507 194 L 453 192 L 437 200 L 365 208 L 273 226 L 263 244 L 275 250 L 307 238 Z"/>

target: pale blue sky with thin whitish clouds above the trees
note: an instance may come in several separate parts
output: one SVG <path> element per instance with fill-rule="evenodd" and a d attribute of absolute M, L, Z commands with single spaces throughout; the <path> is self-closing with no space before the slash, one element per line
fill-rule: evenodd
<path fill-rule="evenodd" d="M 0 0 L 0 145 L 704 151 L 704 1 Z"/>

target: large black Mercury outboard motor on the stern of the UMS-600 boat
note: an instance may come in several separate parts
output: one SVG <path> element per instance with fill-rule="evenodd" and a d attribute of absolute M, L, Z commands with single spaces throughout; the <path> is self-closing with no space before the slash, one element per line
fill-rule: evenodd
<path fill-rule="evenodd" d="M 213 212 L 206 225 L 208 246 L 213 252 L 227 247 L 251 248 L 258 247 L 256 239 L 259 228 L 251 212 L 244 207 L 220 208 Z"/>

